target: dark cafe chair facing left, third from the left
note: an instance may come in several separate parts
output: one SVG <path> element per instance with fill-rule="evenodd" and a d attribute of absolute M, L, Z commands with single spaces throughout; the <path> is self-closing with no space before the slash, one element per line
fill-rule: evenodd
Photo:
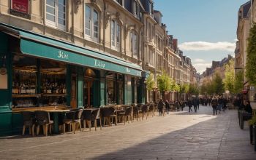
<path fill-rule="evenodd" d="M 63 120 L 63 133 L 65 133 L 65 124 L 69 124 L 69 130 L 71 130 L 71 126 L 72 126 L 72 131 L 75 134 L 75 124 L 79 124 L 80 127 L 80 132 L 82 132 L 82 128 L 81 128 L 81 116 L 83 113 L 83 109 L 73 109 L 69 112 L 66 113 L 66 116 Z"/>

